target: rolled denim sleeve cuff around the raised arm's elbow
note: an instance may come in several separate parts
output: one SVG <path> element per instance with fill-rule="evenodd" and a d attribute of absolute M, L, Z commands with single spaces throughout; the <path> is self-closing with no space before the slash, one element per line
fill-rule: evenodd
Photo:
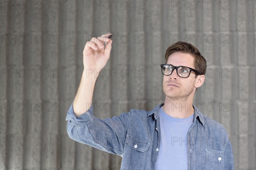
<path fill-rule="evenodd" d="M 67 111 L 66 121 L 70 122 L 72 125 L 84 126 L 93 121 L 93 104 L 90 109 L 83 113 L 82 115 L 76 117 L 73 109 L 73 102 Z"/>

